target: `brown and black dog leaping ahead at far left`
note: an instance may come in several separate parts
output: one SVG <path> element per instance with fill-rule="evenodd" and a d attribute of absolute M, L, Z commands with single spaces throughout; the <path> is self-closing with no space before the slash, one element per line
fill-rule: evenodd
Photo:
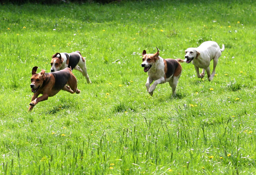
<path fill-rule="evenodd" d="M 39 101 L 47 100 L 48 97 L 56 95 L 60 90 L 70 93 L 80 93 L 80 90 L 77 89 L 76 77 L 70 68 L 51 73 L 45 73 L 45 70 L 42 69 L 39 74 L 36 74 L 37 68 L 38 67 L 35 66 L 32 69 L 30 88 L 34 94 L 29 103 L 29 111 L 31 111 Z M 39 94 L 43 95 L 38 97 Z"/>

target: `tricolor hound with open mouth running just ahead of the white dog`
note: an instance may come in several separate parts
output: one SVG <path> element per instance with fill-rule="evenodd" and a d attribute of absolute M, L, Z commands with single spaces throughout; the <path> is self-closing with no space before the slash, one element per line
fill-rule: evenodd
<path fill-rule="evenodd" d="M 152 96 L 157 84 L 169 82 L 172 87 L 172 95 L 175 96 L 175 90 L 181 75 L 182 67 L 178 60 L 163 59 L 159 56 L 158 48 L 155 54 L 150 54 L 143 50 L 141 66 L 144 72 L 148 72 L 146 88 Z M 151 86 L 150 84 L 155 81 Z"/>

